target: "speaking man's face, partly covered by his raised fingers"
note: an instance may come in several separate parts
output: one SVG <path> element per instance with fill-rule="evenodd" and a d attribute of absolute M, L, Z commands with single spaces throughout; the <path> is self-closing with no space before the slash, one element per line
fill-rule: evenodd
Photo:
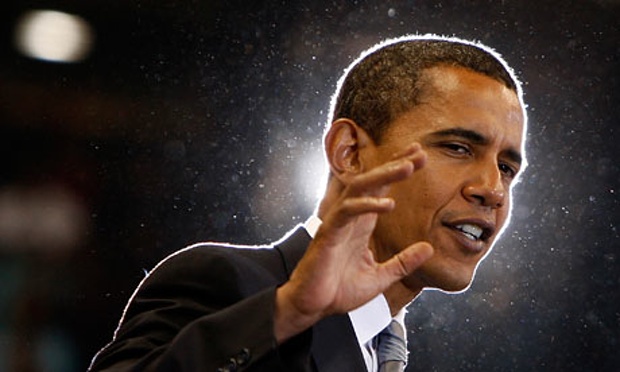
<path fill-rule="evenodd" d="M 435 254 L 403 283 L 460 291 L 470 284 L 510 214 L 524 117 L 515 92 L 456 67 L 426 70 L 423 102 L 391 123 L 364 156 L 372 166 L 414 142 L 426 165 L 390 188 L 396 207 L 373 234 L 379 260 L 427 241 Z"/>

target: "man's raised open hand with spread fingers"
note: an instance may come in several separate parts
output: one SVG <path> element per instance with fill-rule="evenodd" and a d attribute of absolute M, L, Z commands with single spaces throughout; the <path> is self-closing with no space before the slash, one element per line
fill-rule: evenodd
<path fill-rule="evenodd" d="M 432 255 L 419 242 L 379 263 L 370 249 L 380 213 L 394 208 L 389 186 L 410 177 L 426 160 L 412 145 L 392 161 L 351 178 L 347 185 L 330 183 L 335 195 L 323 224 L 290 280 L 276 295 L 276 339 L 282 342 L 323 317 L 353 310 L 394 282 L 409 275 Z"/>

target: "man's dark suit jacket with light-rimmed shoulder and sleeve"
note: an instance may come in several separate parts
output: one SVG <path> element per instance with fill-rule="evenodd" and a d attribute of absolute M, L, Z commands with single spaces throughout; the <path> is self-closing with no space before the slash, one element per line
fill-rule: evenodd
<path fill-rule="evenodd" d="M 275 246 L 199 244 L 171 255 L 140 284 L 91 370 L 365 371 L 346 314 L 275 343 L 275 290 L 309 242 L 298 227 Z"/>

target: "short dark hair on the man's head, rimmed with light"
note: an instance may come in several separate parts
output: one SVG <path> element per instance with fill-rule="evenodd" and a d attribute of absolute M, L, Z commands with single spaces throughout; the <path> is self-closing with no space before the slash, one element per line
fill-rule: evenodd
<path fill-rule="evenodd" d="M 405 36 L 377 44 L 349 66 L 332 98 L 330 123 L 351 119 L 378 142 L 390 122 L 420 102 L 424 70 L 441 65 L 489 76 L 521 100 L 519 80 L 492 49 L 457 38 Z"/>

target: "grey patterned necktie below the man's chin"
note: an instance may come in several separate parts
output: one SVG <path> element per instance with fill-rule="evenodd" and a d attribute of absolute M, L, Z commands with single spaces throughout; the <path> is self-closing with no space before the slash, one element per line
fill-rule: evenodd
<path fill-rule="evenodd" d="M 377 335 L 377 361 L 379 372 L 403 372 L 407 364 L 407 343 L 403 327 L 392 320 Z"/>

